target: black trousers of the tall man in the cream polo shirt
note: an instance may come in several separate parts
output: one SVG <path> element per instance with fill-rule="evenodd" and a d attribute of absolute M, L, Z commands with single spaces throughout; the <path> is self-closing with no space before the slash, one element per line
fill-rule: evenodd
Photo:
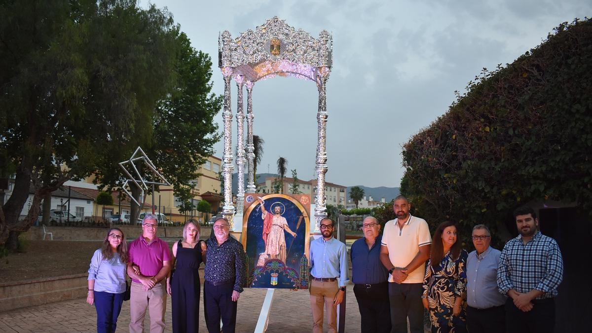
<path fill-rule="evenodd" d="M 423 333 L 422 283 L 388 283 L 392 333 Z"/>

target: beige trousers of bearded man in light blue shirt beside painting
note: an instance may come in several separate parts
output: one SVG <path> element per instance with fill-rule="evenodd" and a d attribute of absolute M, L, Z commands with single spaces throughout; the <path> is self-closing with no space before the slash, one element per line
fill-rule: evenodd
<path fill-rule="evenodd" d="M 310 308 L 313 310 L 313 333 L 323 333 L 323 304 L 327 309 L 329 333 L 337 332 L 337 305 L 333 304 L 337 290 L 337 281 L 311 280 L 309 291 Z"/>

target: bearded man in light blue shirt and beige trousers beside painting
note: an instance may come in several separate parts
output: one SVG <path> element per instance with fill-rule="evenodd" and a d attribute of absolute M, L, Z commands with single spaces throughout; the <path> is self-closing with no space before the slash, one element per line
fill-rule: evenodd
<path fill-rule="evenodd" d="M 337 332 L 337 305 L 343 302 L 348 284 L 348 250 L 333 237 L 333 221 L 321 220 L 321 235 L 310 243 L 310 305 L 313 332 L 323 332 L 323 306 L 329 332 Z"/>

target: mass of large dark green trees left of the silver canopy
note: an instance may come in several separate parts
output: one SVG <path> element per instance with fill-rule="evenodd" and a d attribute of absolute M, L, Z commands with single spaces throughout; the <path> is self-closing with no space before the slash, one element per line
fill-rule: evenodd
<path fill-rule="evenodd" d="M 0 17 L 9 46 L 0 47 L 0 177 L 15 174 L 0 244 L 14 248 L 41 198 L 67 180 L 96 172 L 108 190 L 120 187 L 117 163 L 137 146 L 175 194 L 191 196 L 192 171 L 219 139 L 221 97 L 210 93 L 210 58 L 169 13 L 133 0 L 80 0 L 2 4 Z M 19 221 L 30 185 L 33 204 Z"/>

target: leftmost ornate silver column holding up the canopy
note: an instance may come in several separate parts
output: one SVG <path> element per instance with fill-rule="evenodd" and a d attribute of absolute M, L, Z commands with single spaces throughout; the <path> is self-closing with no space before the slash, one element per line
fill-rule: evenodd
<path fill-rule="evenodd" d="M 232 110 L 230 106 L 230 81 L 232 79 L 232 68 L 222 68 L 224 75 L 224 153 L 222 156 L 222 174 L 224 175 L 224 206 L 222 215 L 229 221 L 230 228 L 233 227 L 234 206 L 232 204 Z"/>

